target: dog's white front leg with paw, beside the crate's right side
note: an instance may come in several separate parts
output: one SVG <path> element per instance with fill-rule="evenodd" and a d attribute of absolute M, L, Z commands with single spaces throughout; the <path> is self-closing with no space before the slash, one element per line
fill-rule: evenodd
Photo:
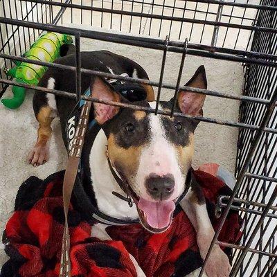
<path fill-rule="evenodd" d="M 204 260 L 210 247 L 215 231 L 208 217 L 206 202 L 202 189 L 196 182 L 193 182 L 186 197 L 181 201 L 181 207 L 192 222 L 197 233 L 197 244 L 200 255 Z M 229 259 L 226 254 L 220 249 L 220 246 L 215 244 L 211 256 L 208 258 L 205 270 L 208 277 L 227 277 L 231 271 Z"/>

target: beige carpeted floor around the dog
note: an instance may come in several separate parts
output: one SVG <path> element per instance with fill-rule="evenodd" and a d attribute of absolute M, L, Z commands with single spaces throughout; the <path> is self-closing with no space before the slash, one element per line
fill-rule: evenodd
<path fill-rule="evenodd" d="M 140 7 L 136 8 L 140 10 Z M 100 13 L 98 14 L 100 15 Z M 74 17 L 80 17 L 80 13 L 78 12 L 78 15 L 74 14 Z M 66 18 L 68 17 L 65 15 L 63 24 L 69 26 L 69 23 L 66 22 Z M 84 15 L 84 19 L 85 18 L 87 17 Z M 100 17 L 95 16 L 94 19 L 98 21 L 98 23 L 96 22 L 96 24 L 94 24 L 96 27 L 93 28 L 95 29 L 99 27 Z M 105 19 L 107 18 L 105 17 Z M 120 20 L 120 18 L 118 17 L 117 20 Z M 113 26 L 118 26 L 118 22 L 119 21 L 114 19 Z M 76 24 L 80 24 L 80 22 Z M 80 26 L 76 24 L 74 26 Z M 136 24 L 140 24 L 140 21 L 133 20 L 132 28 L 134 28 Z M 157 27 L 155 27 L 155 24 L 157 24 Z M 123 26 L 125 30 L 127 30 L 129 28 L 129 23 L 123 21 Z M 143 19 L 143 24 L 141 26 L 141 35 L 148 35 L 150 26 L 149 19 Z M 91 27 L 83 26 L 83 28 Z M 152 32 L 157 33 L 158 28 L 159 24 L 152 21 Z M 200 30 L 196 27 L 193 30 L 196 34 L 199 33 L 199 31 Z M 161 32 L 166 33 L 166 27 L 163 27 Z M 211 36 L 210 30 L 207 29 L 205 32 L 207 36 Z M 163 33 L 160 34 L 161 37 L 163 37 Z M 171 30 L 171 36 L 178 37 L 178 34 L 179 28 L 174 26 Z M 135 33 L 135 35 L 137 34 Z M 194 35 L 192 37 L 194 37 Z M 231 43 L 232 37 L 228 41 Z M 228 46 L 228 44 L 226 46 Z M 244 47 L 242 44 L 240 46 L 241 48 Z M 161 68 L 161 59 L 163 55 L 161 51 L 112 44 L 109 42 L 99 42 L 91 39 L 82 39 L 81 47 L 82 51 L 107 49 L 114 53 L 130 57 L 143 66 L 148 72 L 150 80 L 159 81 L 159 70 Z M 164 73 L 165 82 L 176 84 L 180 58 L 180 55 L 174 53 L 168 54 Z M 181 84 L 185 84 L 201 64 L 204 64 L 206 67 L 208 89 L 231 93 L 233 95 L 240 95 L 242 93 L 243 71 L 240 63 L 211 60 L 204 57 L 189 55 L 186 57 Z M 5 96 L 8 97 L 9 91 L 8 89 Z M 162 91 L 162 98 L 169 99 L 173 93 L 174 91 L 164 90 Z M 204 116 L 237 121 L 238 107 L 238 101 L 208 96 L 204 105 Z M 31 93 L 27 94 L 24 104 L 17 110 L 8 110 L 4 108 L 3 105 L 0 105 L 0 118 L 0 233 L 2 233 L 8 218 L 12 214 L 17 189 L 22 181 L 30 177 L 30 175 L 45 178 L 57 170 L 64 169 L 66 151 L 62 143 L 59 120 L 55 119 L 53 124 L 54 134 L 51 140 L 50 161 L 38 168 L 33 168 L 33 166 L 28 165 L 26 162 L 27 154 L 35 142 L 37 132 L 37 121 L 33 115 Z M 211 123 L 199 123 L 199 127 L 197 127 L 195 134 L 195 159 L 193 161 L 195 168 L 202 163 L 215 162 L 224 166 L 231 172 L 234 171 L 238 136 L 237 129 Z M 0 265 L 2 265 L 6 260 L 6 256 L 3 253 L 3 245 L 1 245 L 0 248 Z"/>

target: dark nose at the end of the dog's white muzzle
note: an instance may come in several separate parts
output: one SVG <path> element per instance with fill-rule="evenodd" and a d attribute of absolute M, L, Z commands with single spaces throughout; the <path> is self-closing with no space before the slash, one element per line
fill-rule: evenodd
<path fill-rule="evenodd" d="M 166 200 L 172 195 L 175 181 L 172 174 L 163 175 L 150 174 L 145 180 L 148 193 L 157 200 Z"/>

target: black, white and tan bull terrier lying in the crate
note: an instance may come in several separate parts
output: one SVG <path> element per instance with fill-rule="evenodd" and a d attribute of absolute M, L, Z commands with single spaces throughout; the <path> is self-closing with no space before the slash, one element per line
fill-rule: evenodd
<path fill-rule="evenodd" d="M 59 64 L 75 66 L 75 55 L 66 55 L 56 61 Z M 81 52 L 82 68 L 123 74 L 130 77 L 148 79 L 148 74 L 136 62 L 108 51 Z M 127 84 L 125 84 L 127 85 Z M 186 84 L 190 87 L 206 89 L 204 66 L 199 66 L 195 75 Z M 41 87 L 75 92 L 75 72 L 48 69 Z M 113 87 L 99 77 L 82 73 L 82 93 L 90 87 L 92 96 L 98 99 L 129 102 L 114 91 Z M 154 91 L 150 85 L 142 85 L 145 98 L 137 105 L 156 106 Z M 202 115 L 205 96 L 188 91 L 179 91 L 176 111 Z M 62 135 L 67 145 L 66 123 L 75 107 L 75 100 L 53 94 L 35 92 L 33 98 L 35 116 L 39 121 L 37 143 L 30 152 L 28 161 L 33 166 L 42 165 L 49 158 L 51 121 L 60 117 Z M 172 100 L 161 101 L 159 109 L 170 110 Z M 175 202 L 187 191 L 181 206 L 197 231 L 197 242 L 202 258 L 205 258 L 213 238 L 214 230 L 208 218 L 206 204 L 197 184 L 186 184 L 194 152 L 194 132 L 196 120 L 157 116 L 145 111 L 127 107 L 115 107 L 93 102 L 90 118 L 99 125 L 87 130 L 82 163 L 84 175 L 93 188 L 92 196 L 98 210 L 111 217 L 136 220 L 153 233 L 168 229 L 172 222 Z M 97 128 L 96 128 L 97 129 Z M 107 159 L 108 156 L 108 159 Z M 134 206 L 129 207 L 118 195 L 124 195 L 118 186 L 111 168 L 127 186 Z M 112 193 L 115 192 L 115 193 Z M 117 193 L 117 195 L 115 195 Z M 104 224 L 98 224 L 105 233 Z M 93 229 L 96 230 L 96 229 Z M 93 234 L 93 235 L 98 235 Z M 218 245 L 213 247 L 208 259 L 208 277 L 229 276 L 230 265 L 225 253 Z M 141 273 L 141 276 L 144 276 Z"/>

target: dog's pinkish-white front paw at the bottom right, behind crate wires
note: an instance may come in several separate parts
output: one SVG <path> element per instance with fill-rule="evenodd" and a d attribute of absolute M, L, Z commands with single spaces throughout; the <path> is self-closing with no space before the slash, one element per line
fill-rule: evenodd
<path fill-rule="evenodd" d="M 208 277 L 229 277 L 231 271 L 229 259 L 218 245 L 213 247 L 205 271 Z"/>

